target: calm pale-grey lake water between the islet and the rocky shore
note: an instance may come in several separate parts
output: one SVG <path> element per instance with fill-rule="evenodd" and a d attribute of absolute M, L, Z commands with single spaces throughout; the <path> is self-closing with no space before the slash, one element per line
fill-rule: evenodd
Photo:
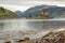
<path fill-rule="evenodd" d="M 37 38 L 42 37 L 50 31 L 65 29 L 65 20 L 49 22 L 3 22 L 0 23 L 0 39 L 22 39 L 25 37 Z"/>

